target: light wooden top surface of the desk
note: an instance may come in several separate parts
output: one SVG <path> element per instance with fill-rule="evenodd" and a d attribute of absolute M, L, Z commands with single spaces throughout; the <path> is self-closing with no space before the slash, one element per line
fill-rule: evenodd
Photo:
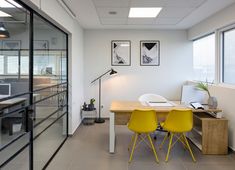
<path fill-rule="evenodd" d="M 113 101 L 110 106 L 111 112 L 132 112 L 135 109 L 153 109 L 156 112 L 169 112 L 172 109 L 192 109 L 185 105 L 181 105 L 179 101 L 169 101 L 172 106 L 149 106 L 146 103 L 138 101 Z M 220 109 L 192 109 L 193 112 L 221 112 Z"/>

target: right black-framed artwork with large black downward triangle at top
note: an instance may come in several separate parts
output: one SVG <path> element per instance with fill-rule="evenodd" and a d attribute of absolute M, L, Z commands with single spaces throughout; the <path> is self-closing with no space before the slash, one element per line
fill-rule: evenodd
<path fill-rule="evenodd" d="M 160 65 L 160 41 L 140 41 L 140 65 Z"/>

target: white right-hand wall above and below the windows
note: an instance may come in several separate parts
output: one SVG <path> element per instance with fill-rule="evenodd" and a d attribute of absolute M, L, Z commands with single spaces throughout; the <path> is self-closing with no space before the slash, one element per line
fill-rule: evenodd
<path fill-rule="evenodd" d="M 222 27 L 235 24 L 235 4 L 223 9 L 212 17 L 202 21 L 188 30 L 188 38 L 193 39 L 215 31 Z M 209 87 L 212 96 L 216 96 L 218 107 L 223 110 L 229 120 L 229 146 L 235 150 L 235 87 L 216 84 Z"/>

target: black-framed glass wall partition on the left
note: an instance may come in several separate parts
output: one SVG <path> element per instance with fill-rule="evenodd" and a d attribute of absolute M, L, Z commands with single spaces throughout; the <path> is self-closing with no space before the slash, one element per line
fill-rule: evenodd
<path fill-rule="evenodd" d="M 1 0 L 0 169 L 45 169 L 68 134 L 67 34 Z"/>

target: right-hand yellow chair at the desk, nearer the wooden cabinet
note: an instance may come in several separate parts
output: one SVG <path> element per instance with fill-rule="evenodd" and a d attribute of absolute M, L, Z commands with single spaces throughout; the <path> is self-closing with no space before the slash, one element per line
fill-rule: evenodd
<path fill-rule="evenodd" d="M 160 149 L 162 148 L 163 144 L 165 143 L 166 139 L 170 137 L 168 151 L 166 155 L 166 162 L 168 161 L 169 154 L 171 148 L 176 144 L 176 142 L 180 141 L 183 146 L 189 150 L 191 157 L 194 162 L 196 159 L 193 155 L 193 152 L 189 146 L 188 140 L 185 136 L 186 132 L 189 132 L 193 128 L 193 113 L 192 110 L 184 109 L 184 110 L 172 110 L 170 111 L 169 115 L 166 118 L 166 121 L 161 124 L 163 129 L 167 130 L 170 135 L 166 134 L 164 137 Z M 172 144 L 173 137 L 176 137 L 176 141 Z"/>

